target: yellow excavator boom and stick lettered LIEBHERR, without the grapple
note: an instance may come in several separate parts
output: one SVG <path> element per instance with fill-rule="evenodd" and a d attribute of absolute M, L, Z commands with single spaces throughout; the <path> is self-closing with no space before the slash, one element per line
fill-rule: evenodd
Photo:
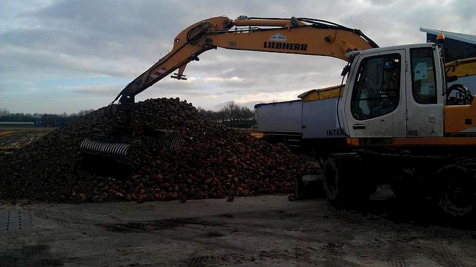
<path fill-rule="evenodd" d="M 235 28 L 233 28 L 235 27 Z M 360 30 L 311 18 L 212 17 L 197 22 L 174 39 L 173 49 L 116 97 L 120 103 L 134 102 L 135 95 L 165 78 L 186 80 L 186 65 L 212 49 L 254 50 L 264 52 L 320 55 L 348 60 L 353 50 L 377 48 Z M 114 102 L 113 101 L 113 102 Z"/>

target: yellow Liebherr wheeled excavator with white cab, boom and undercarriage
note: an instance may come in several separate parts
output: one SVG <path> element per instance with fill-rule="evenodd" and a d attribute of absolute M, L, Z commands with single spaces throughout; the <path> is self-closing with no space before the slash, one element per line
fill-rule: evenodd
<path fill-rule="evenodd" d="M 360 30 L 329 21 L 245 16 L 204 19 L 173 41 L 113 102 L 127 108 L 172 73 L 185 80 L 186 65 L 217 48 L 339 58 L 348 63 L 341 97 L 314 101 L 314 127 L 303 125 L 302 141 L 319 158 L 327 200 L 362 205 L 375 184 L 389 183 L 403 203 L 428 200 L 448 216 L 472 214 L 476 104 L 464 85 L 448 88 L 443 42 L 379 48 Z"/>

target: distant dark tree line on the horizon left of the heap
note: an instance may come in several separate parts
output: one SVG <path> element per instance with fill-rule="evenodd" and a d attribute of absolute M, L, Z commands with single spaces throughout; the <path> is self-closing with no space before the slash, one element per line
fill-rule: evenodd
<path fill-rule="evenodd" d="M 73 122 L 79 117 L 83 117 L 86 114 L 93 112 L 94 110 L 81 110 L 78 113 L 67 114 L 38 114 L 38 113 L 11 113 L 6 108 L 0 108 L 0 121 L 31 121 L 35 123 L 35 126 L 52 126 L 62 127 L 66 124 Z"/>

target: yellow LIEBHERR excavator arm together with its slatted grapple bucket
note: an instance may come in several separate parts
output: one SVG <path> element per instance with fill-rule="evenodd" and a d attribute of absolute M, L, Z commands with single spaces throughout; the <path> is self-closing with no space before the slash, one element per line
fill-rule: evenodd
<path fill-rule="evenodd" d="M 171 77 L 186 80 L 183 75 L 185 66 L 190 61 L 199 60 L 198 56 L 204 51 L 218 47 L 327 55 L 347 60 L 345 54 L 349 51 L 378 46 L 359 30 L 311 18 L 208 18 L 179 33 L 174 39 L 173 49 L 129 83 L 112 103 L 118 100 L 119 110 L 127 114 L 130 106 L 133 106 L 135 95 L 176 69 L 178 72 Z M 110 107 L 112 113 L 112 105 Z M 179 134 L 163 129 L 142 129 L 140 125 L 120 125 L 93 132 L 90 138 L 81 142 L 83 152 L 105 156 L 130 167 L 140 165 L 141 158 L 147 154 L 147 146 L 170 149 L 180 145 Z"/>

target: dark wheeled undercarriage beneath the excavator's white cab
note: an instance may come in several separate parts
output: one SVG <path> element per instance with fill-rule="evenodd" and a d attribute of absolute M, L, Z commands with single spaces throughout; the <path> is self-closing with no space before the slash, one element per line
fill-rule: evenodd
<path fill-rule="evenodd" d="M 476 206 L 469 150 L 356 149 L 326 155 L 321 168 L 326 197 L 338 207 L 365 207 L 377 184 L 389 184 L 403 209 L 421 205 L 441 219 L 469 219 Z"/>

